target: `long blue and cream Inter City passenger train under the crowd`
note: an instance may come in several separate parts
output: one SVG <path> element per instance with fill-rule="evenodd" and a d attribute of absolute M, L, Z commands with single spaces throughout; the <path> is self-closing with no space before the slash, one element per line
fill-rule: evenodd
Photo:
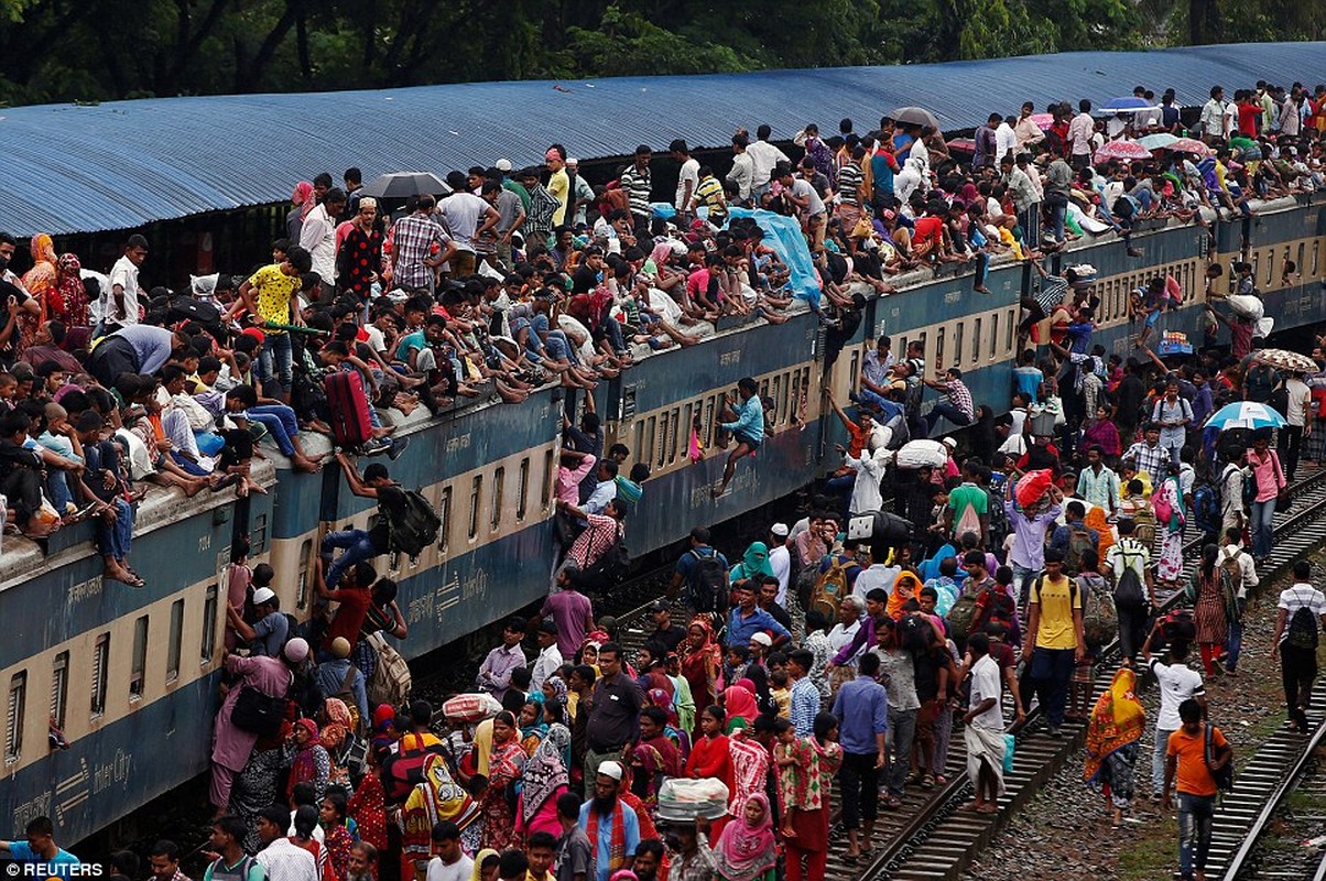
<path fill-rule="evenodd" d="M 1248 222 L 1213 218 L 1209 235 L 1195 226 L 1144 230 L 1134 245 L 1140 259 L 1127 256 L 1114 235 L 1078 240 L 1052 257 L 1052 271 L 1082 263 L 1097 268 L 1095 340 L 1109 352 L 1128 352 L 1128 293 L 1156 275 L 1172 275 L 1184 291 L 1160 330 L 1199 334 L 1211 260 L 1252 263 L 1277 330 L 1326 321 L 1321 198 L 1265 203 Z M 1298 268 L 1288 277 L 1286 260 Z M 1227 272 L 1219 284 L 1231 277 Z M 839 401 L 855 389 L 862 358 L 879 334 L 891 336 L 899 353 L 922 342 L 928 365 L 961 368 L 975 401 L 1006 409 L 1018 304 L 1034 284 L 1032 267 L 1010 260 L 991 267 L 989 293 L 972 289 L 969 272 L 900 276 L 896 292 L 870 292 L 859 328 L 831 364 L 823 324 L 805 304 L 780 325 L 720 322 L 700 345 L 642 353 L 593 391 L 606 443 L 625 443 L 630 462 L 646 462 L 652 472 L 627 517 L 633 556 L 676 545 L 696 524 L 728 521 L 785 498 L 837 466 L 834 443 L 845 435 L 821 389 L 827 383 Z M 727 456 L 712 443 L 719 411 L 745 375 L 773 401 L 768 438 L 741 463 L 728 492 L 713 499 Z M 926 407 L 932 397 L 927 393 Z M 391 476 L 420 490 L 442 519 L 438 541 L 416 559 L 375 561 L 379 573 L 399 582 L 410 629 L 399 649 L 407 658 L 463 645 L 468 634 L 546 594 L 562 414 L 575 418 L 583 406 L 569 391 L 545 387 L 514 406 L 479 401 L 439 417 L 394 414 L 398 434 L 411 444 L 390 463 Z M 696 419 L 704 454 L 692 460 Z M 21 832 L 45 815 L 61 841 L 77 841 L 207 771 L 232 547 L 247 537 L 249 563 L 276 569 L 272 586 L 281 608 L 305 618 L 320 537 L 349 524 L 366 527 L 375 516 L 334 464 L 300 474 L 274 448 L 264 444 L 264 455 L 256 476 L 268 495 L 186 500 L 152 488 L 138 511 L 133 551 L 146 580 L 141 589 L 102 582 L 86 525 L 61 531 L 46 551 L 5 536 L 0 827 Z M 450 663 L 460 653 L 446 654 Z M 48 738 L 52 724 L 66 748 Z"/>

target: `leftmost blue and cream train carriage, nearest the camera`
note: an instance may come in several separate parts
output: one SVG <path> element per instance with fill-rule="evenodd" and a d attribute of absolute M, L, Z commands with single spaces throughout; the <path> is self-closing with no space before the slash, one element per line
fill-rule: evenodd
<path fill-rule="evenodd" d="M 253 476 L 274 486 L 271 463 L 256 462 Z M 248 535 L 251 560 L 267 559 L 272 502 L 151 488 L 131 552 L 142 589 L 102 582 L 91 524 L 52 536 L 49 553 L 5 539 L 7 835 L 45 815 L 61 841 L 78 841 L 207 770 L 225 629 L 223 573 L 237 536 Z M 52 722 L 68 748 L 52 746 Z"/>

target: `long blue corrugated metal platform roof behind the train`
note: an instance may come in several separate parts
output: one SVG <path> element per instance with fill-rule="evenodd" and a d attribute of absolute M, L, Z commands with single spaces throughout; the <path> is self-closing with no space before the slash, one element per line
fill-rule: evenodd
<path fill-rule="evenodd" d="M 0 115 L 0 226 L 95 232 L 278 202 L 294 182 L 347 166 L 370 180 L 400 169 L 444 174 L 507 157 L 541 159 L 552 141 L 582 158 L 727 146 L 735 126 L 774 138 L 842 117 L 873 126 L 900 105 L 930 107 L 953 129 L 1022 101 L 1103 101 L 1136 84 L 1201 103 L 1211 85 L 1319 76 L 1326 42 L 1158 52 L 1077 52 L 991 61 L 768 70 L 693 77 L 476 82 L 378 92 L 217 96 L 97 106 L 15 107 Z M 664 129 L 660 121 L 672 121 Z"/>

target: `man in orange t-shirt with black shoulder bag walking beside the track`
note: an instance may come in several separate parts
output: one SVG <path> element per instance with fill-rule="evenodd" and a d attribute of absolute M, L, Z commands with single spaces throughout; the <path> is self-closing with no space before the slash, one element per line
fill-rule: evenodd
<path fill-rule="evenodd" d="M 1171 808 L 1170 792 L 1177 779 L 1179 791 L 1179 876 L 1184 881 L 1205 881 L 1207 850 L 1216 811 L 1215 772 L 1233 760 L 1233 747 L 1220 728 L 1211 726 L 1212 760 L 1208 766 L 1207 726 L 1196 701 L 1179 705 L 1183 727 L 1170 735 L 1164 766 L 1164 797 L 1160 807 Z"/>

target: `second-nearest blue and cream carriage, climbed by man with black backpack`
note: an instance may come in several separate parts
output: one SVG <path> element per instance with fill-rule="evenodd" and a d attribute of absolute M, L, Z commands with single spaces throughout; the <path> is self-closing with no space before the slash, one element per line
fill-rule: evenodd
<path fill-rule="evenodd" d="M 436 544 L 419 557 L 394 553 L 373 561 L 379 576 L 399 585 L 396 602 L 410 628 L 398 645 L 404 657 L 469 637 L 548 592 L 560 401 L 560 389 L 541 389 L 517 406 L 481 402 L 438 418 L 392 411 L 395 437 L 410 438 L 410 447 L 395 462 L 357 462 L 361 472 L 370 462 L 386 464 L 394 480 L 419 490 L 442 519 Z M 321 535 L 369 528 L 377 516 L 377 504 L 350 492 L 335 462 L 316 476 L 294 476 L 300 495 L 292 511 L 277 516 L 276 544 L 289 561 L 278 577 L 292 578 L 288 590 L 305 605 Z M 285 504 L 284 483 L 281 494 Z"/>

